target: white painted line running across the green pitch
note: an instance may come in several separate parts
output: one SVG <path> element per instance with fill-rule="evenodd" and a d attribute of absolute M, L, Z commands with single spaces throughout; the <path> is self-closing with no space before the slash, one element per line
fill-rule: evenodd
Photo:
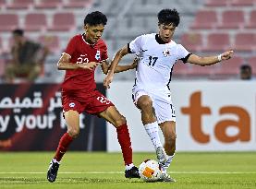
<path fill-rule="evenodd" d="M 123 171 L 64 171 L 60 174 L 123 174 Z M 171 174 L 256 174 L 256 171 L 169 171 Z M 1 171 L 0 174 L 46 174 L 46 171 Z"/>

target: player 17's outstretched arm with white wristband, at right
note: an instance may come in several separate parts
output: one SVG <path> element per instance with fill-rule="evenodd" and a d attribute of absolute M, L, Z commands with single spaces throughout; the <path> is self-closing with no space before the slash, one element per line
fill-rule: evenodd
<path fill-rule="evenodd" d="M 194 65 L 214 65 L 218 62 L 221 62 L 222 60 L 228 60 L 232 58 L 234 52 L 227 51 L 225 53 L 221 53 L 216 56 L 205 56 L 205 57 L 200 57 L 196 54 L 191 54 L 188 59 L 188 63 L 194 64 Z"/>

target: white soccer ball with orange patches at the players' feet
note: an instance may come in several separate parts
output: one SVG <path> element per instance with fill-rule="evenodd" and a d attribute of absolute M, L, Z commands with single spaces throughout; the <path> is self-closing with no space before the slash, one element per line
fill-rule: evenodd
<path fill-rule="evenodd" d="M 160 179 L 161 170 L 156 160 L 146 159 L 139 167 L 140 179 L 145 182 L 156 182 Z"/>

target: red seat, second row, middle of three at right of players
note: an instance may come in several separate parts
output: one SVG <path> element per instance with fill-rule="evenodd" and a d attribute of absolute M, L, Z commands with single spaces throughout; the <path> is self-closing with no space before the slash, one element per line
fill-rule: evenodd
<path fill-rule="evenodd" d="M 244 26 L 245 18 L 242 10 L 227 10 L 222 14 L 219 29 L 239 29 Z"/>

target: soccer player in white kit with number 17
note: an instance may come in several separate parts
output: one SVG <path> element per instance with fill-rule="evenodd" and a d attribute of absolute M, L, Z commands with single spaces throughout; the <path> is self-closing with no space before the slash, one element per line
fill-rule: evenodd
<path fill-rule="evenodd" d="M 121 58 L 128 53 L 139 55 L 132 97 L 140 109 L 142 124 L 152 140 L 162 167 L 161 181 L 164 182 L 175 182 L 166 171 L 175 155 L 177 137 L 175 108 L 168 89 L 173 65 L 177 60 L 194 65 L 213 65 L 231 58 L 234 53 L 227 51 L 207 57 L 189 53 L 172 40 L 178 24 L 179 14 L 176 9 L 161 10 L 158 13 L 158 33 L 141 35 L 118 50 L 104 78 L 104 86 L 109 88 Z M 158 126 L 165 137 L 164 148 L 159 139 Z"/>

